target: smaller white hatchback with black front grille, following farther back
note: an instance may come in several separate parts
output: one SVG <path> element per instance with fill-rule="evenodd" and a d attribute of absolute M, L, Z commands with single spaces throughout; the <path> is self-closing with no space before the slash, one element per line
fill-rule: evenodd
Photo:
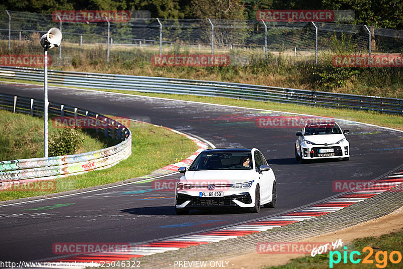
<path fill-rule="evenodd" d="M 345 134 L 349 130 L 340 128 L 336 122 L 305 124 L 295 141 L 295 159 L 301 163 L 313 159 L 350 159 L 350 145 Z"/>

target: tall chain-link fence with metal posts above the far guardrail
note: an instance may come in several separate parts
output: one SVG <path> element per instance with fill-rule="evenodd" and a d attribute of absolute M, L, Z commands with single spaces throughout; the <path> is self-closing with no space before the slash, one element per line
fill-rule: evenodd
<path fill-rule="evenodd" d="M 60 22 L 57 18 L 0 11 L 0 53 L 43 53 L 39 39 L 51 27 L 60 28 L 63 34 L 61 46 L 49 50 L 53 66 L 105 61 L 108 46 L 112 60 L 151 61 L 159 54 L 227 54 L 230 65 L 251 64 L 278 55 L 317 61 L 328 52 L 403 52 L 403 30 L 365 25 L 131 18 L 124 23 L 111 22 L 108 29 L 106 21 Z"/>

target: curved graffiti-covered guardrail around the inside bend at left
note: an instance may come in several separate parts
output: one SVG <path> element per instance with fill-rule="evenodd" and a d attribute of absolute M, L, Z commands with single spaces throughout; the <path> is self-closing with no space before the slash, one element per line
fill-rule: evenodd
<path fill-rule="evenodd" d="M 0 109 L 28 113 L 32 116 L 43 115 L 43 100 L 0 93 Z M 111 167 L 131 154 L 131 132 L 114 119 L 86 111 L 77 107 L 49 102 L 49 115 L 65 117 L 88 117 L 91 125 L 97 125 L 105 137 L 120 142 L 116 146 L 77 155 L 34 158 L 0 162 L 0 186 L 8 181 L 48 180 L 69 175 L 77 175 L 91 170 Z M 91 122 L 91 121 L 87 121 Z M 99 128 L 98 128 L 99 127 Z"/>

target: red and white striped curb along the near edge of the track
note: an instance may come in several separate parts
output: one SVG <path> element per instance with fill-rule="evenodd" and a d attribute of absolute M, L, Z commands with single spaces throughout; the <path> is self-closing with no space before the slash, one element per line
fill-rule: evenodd
<path fill-rule="evenodd" d="M 288 224 L 313 219 L 323 215 L 327 215 L 351 205 L 360 203 L 366 199 L 372 198 L 379 193 L 385 191 L 402 191 L 393 190 L 397 186 L 403 184 L 403 169 L 392 173 L 382 179 L 371 182 L 371 189 L 356 189 L 355 191 L 343 194 L 337 198 L 323 201 L 316 205 L 303 208 L 300 210 L 285 213 L 283 215 L 270 217 L 258 221 L 253 221 L 241 225 L 227 227 L 209 232 L 198 233 L 194 235 L 181 236 L 167 240 L 152 242 L 142 245 L 133 245 L 129 251 L 124 252 L 99 252 L 85 255 L 77 255 L 68 258 L 52 260 L 50 262 L 60 262 L 60 266 L 52 268 L 85 268 L 86 266 L 100 266 L 102 262 L 123 261 L 132 258 L 139 258 L 146 255 L 162 253 L 171 250 L 178 250 L 189 246 L 200 244 L 209 244 L 211 242 L 219 242 L 222 240 L 237 238 L 240 236 L 267 231 L 270 229 L 286 226 Z M 49 267 L 47 267 L 49 268 Z"/>

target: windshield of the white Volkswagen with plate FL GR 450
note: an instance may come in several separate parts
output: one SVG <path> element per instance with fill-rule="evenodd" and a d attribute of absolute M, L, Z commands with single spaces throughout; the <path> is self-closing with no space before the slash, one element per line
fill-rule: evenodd
<path fill-rule="evenodd" d="M 200 153 L 189 170 L 252 169 L 252 157 L 248 152 Z"/>

